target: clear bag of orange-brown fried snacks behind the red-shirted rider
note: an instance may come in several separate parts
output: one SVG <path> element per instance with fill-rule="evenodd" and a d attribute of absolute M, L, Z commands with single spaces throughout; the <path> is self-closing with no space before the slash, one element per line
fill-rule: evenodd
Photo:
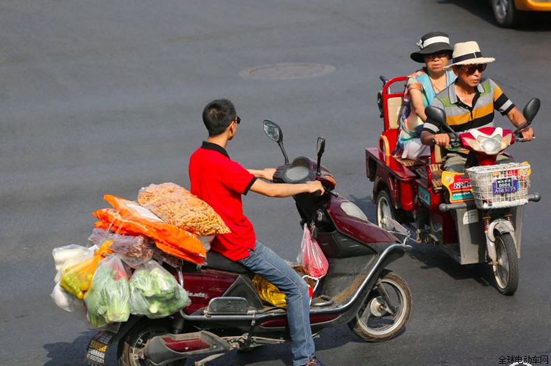
<path fill-rule="evenodd" d="M 213 207 L 175 183 L 150 184 L 142 188 L 138 203 L 166 223 L 197 236 L 230 233 Z"/>

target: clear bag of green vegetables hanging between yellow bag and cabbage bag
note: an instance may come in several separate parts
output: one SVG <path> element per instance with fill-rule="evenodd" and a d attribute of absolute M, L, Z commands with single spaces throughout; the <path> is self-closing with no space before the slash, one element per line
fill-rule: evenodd
<path fill-rule="evenodd" d="M 87 319 L 94 327 L 127 321 L 130 316 L 130 271 L 117 255 L 99 261 L 84 294 Z"/>

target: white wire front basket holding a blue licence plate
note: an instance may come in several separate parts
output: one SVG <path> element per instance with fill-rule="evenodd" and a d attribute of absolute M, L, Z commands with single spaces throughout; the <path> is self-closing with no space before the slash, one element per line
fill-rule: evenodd
<path fill-rule="evenodd" d="M 471 178 L 476 207 L 490 210 L 526 205 L 530 165 L 505 163 L 466 169 Z"/>

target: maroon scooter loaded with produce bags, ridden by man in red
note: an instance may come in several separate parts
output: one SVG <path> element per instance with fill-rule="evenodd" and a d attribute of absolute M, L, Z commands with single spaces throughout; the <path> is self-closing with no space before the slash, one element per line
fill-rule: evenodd
<path fill-rule="evenodd" d="M 326 189 L 324 194 L 294 196 L 301 224 L 315 227 L 313 237 L 329 263 L 311 299 L 313 335 L 343 324 L 368 342 L 401 334 L 411 313 L 411 292 L 386 267 L 408 248 L 408 230 L 397 222 L 393 233 L 371 224 L 359 207 L 333 192 L 336 182 L 320 165 L 323 138 L 318 138 L 317 161 L 301 156 L 289 163 L 280 127 L 266 120 L 264 131 L 285 156 L 285 165 L 274 174 L 275 183 L 319 180 Z M 88 360 L 101 359 L 99 353 L 118 342 L 120 366 L 182 366 L 192 356 L 201 358 L 195 362 L 200 366 L 232 349 L 250 351 L 290 340 L 285 309 L 261 300 L 252 272 L 214 251 L 208 251 L 206 263 L 172 268 L 190 305 L 164 319 L 132 315 L 116 332 L 99 332 L 90 342 Z"/>

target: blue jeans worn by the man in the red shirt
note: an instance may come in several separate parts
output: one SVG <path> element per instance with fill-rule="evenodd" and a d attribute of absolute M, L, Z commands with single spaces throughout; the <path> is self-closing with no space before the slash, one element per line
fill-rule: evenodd
<path fill-rule="evenodd" d="M 280 256 L 261 243 L 256 242 L 255 250 L 249 250 L 249 254 L 238 262 L 285 293 L 293 366 L 306 365 L 315 351 L 308 284 Z"/>

